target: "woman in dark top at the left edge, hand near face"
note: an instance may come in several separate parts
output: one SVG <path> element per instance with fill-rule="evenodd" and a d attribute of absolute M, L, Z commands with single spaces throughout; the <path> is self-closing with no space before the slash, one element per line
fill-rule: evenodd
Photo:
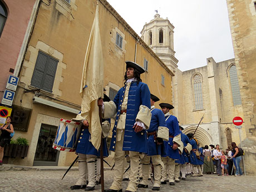
<path fill-rule="evenodd" d="M 6 118 L 6 124 L 0 127 L 0 130 L 2 131 L 0 136 L 0 165 L 3 165 L 3 147 L 10 143 L 12 138 L 11 134 L 14 132 L 11 122 L 12 117 L 8 116 Z"/>

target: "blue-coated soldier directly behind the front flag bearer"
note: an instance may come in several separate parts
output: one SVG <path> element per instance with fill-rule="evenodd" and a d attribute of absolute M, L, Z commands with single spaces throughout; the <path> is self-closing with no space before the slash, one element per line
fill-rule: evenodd
<path fill-rule="evenodd" d="M 157 131 L 166 127 L 165 116 L 160 109 L 156 109 L 154 103 L 159 101 L 159 98 L 150 94 L 151 102 L 151 121 L 150 127 L 147 130 L 147 155 L 142 159 L 142 178 L 143 180 L 138 185 L 139 188 L 148 188 L 149 165 L 150 158 L 154 166 L 154 186 L 152 190 L 160 190 L 161 166 L 164 166 L 161 161 L 161 155 L 166 155 L 163 139 L 157 137 Z M 165 128 L 166 129 L 166 128 Z"/>

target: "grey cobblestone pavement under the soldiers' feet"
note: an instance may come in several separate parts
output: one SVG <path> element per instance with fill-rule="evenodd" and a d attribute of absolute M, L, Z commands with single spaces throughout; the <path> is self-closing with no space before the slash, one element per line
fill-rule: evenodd
<path fill-rule="evenodd" d="M 70 186 L 76 183 L 78 171 L 70 171 L 61 180 L 65 171 L 2 171 L 0 172 L 0 191 L 84 191 L 71 190 Z M 112 183 L 114 172 L 105 171 L 105 189 Z M 125 191 L 128 181 L 123 181 L 122 187 Z M 139 191 L 152 191 L 152 184 L 149 188 Z M 101 186 L 97 185 L 95 192 L 101 191 Z M 185 181 L 176 183 L 175 186 L 161 185 L 160 191 L 256 191 L 256 176 L 218 176 L 204 175 L 201 177 L 188 176 Z"/>

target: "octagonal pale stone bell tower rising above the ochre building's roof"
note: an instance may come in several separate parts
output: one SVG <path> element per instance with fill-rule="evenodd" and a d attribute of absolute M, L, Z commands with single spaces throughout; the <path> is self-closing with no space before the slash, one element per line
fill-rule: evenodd
<path fill-rule="evenodd" d="M 154 19 L 145 23 L 141 38 L 156 53 L 156 55 L 175 72 L 178 67 L 178 60 L 174 51 L 174 26 L 168 18 L 163 19 L 156 13 Z"/>

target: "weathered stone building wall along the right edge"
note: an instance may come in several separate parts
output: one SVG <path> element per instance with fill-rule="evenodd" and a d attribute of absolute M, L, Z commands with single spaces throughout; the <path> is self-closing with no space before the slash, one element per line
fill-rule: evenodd
<path fill-rule="evenodd" d="M 242 140 L 247 173 L 256 174 L 256 1 L 227 0 L 235 65 L 242 98 Z M 239 142 L 238 142 L 239 143 Z"/>

